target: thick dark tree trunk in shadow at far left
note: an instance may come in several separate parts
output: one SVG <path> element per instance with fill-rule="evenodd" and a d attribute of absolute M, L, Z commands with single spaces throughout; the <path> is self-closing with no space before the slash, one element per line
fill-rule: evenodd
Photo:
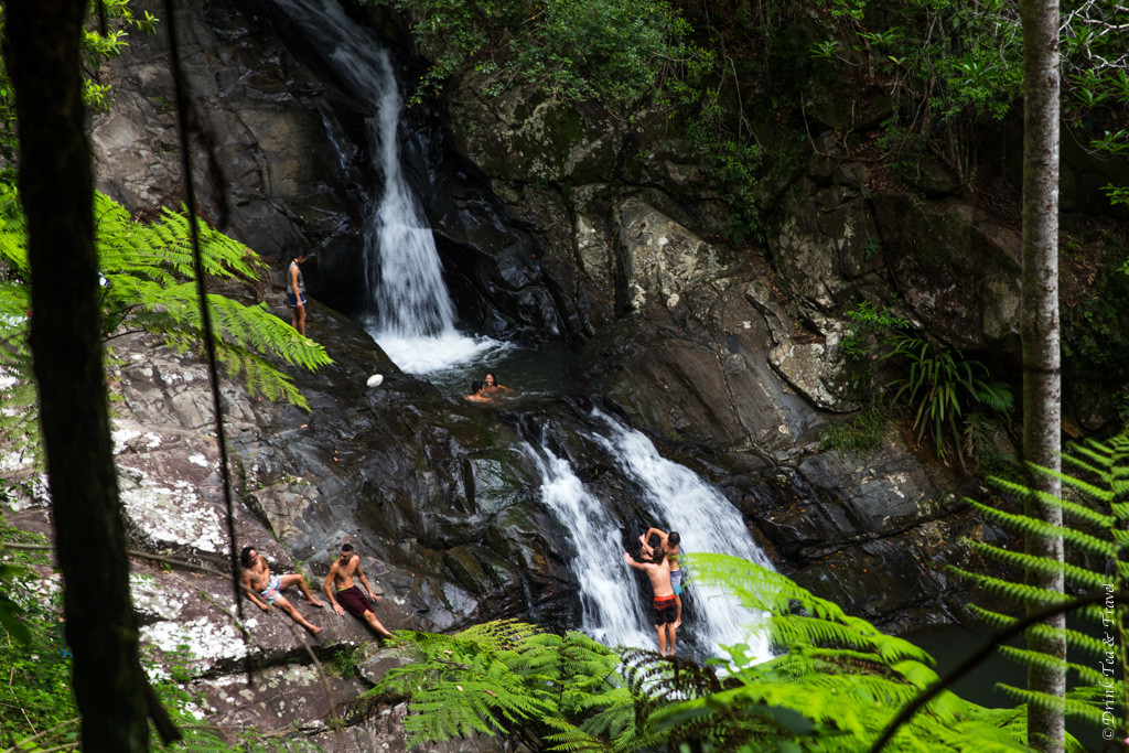
<path fill-rule="evenodd" d="M 32 350 L 63 573 L 82 750 L 148 750 L 146 680 L 98 332 L 94 181 L 80 42 L 88 0 L 5 0 L 19 187 L 32 268 Z"/>

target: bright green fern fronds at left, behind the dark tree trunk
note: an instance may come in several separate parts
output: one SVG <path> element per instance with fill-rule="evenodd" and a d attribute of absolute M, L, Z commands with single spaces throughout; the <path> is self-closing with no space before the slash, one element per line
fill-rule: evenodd
<path fill-rule="evenodd" d="M 102 332 L 107 344 L 126 332 L 155 332 L 181 351 L 201 350 L 199 296 L 193 281 L 189 221 L 164 210 L 159 222 L 134 222 L 117 203 L 97 194 L 96 244 L 102 268 Z M 203 269 L 211 279 L 253 283 L 263 263 L 231 238 L 200 227 Z M 16 192 L 0 185 L 0 430 L 34 446 L 36 412 L 26 329 L 30 315 L 26 233 Z M 306 400 L 277 364 L 316 369 L 331 362 L 325 349 L 301 338 L 266 308 L 208 295 L 217 356 L 253 394 L 307 408 Z"/>

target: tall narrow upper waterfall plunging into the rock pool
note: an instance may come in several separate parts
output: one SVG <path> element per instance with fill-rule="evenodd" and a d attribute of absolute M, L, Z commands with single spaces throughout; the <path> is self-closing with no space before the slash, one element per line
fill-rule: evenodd
<path fill-rule="evenodd" d="M 403 370 L 423 374 L 496 347 L 455 329 L 435 236 L 404 178 L 396 131 L 403 100 L 388 53 L 349 18 L 339 0 L 274 0 L 366 105 L 366 130 L 383 183 L 365 221 L 361 323 Z"/>

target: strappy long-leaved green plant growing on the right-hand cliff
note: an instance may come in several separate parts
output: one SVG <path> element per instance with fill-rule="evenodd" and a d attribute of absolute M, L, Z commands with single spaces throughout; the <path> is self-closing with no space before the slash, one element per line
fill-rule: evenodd
<path fill-rule="evenodd" d="M 905 397 L 913 413 L 918 439 L 928 432 L 938 457 L 944 458 L 946 447 L 952 446 L 963 463 L 963 417 L 977 405 L 1006 417 L 1014 402 L 1010 388 L 994 378 L 980 361 L 920 334 L 899 332 L 890 342 L 891 350 L 885 358 L 898 357 L 908 364 L 907 376 L 886 385 L 893 391 L 892 401 L 896 403 Z"/>

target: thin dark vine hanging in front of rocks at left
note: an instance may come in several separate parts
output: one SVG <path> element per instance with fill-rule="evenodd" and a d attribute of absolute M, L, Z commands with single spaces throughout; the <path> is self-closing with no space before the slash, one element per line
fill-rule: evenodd
<path fill-rule="evenodd" d="M 216 441 L 219 444 L 219 471 L 224 480 L 224 505 L 227 515 L 228 555 L 231 562 L 231 597 L 239 622 L 244 621 L 243 598 L 240 594 L 239 558 L 235 543 L 235 506 L 231 501 L 231 472 L 227 458 L 227 435 L 224 430 L 224 406 L 219 394 L 219 370 L 216 368 L 216 342 L 212 333 L 211 310 L 208 308 L 208 297 L 204 291 L 204 265 L 200 253 L 200 229 L 196 227 L 196 191 L 192 183 L 192 158 L 189 152 L 189 95 L 184 71 L 181 69 L 181 53 L 176 42 L 176 14 L 173 0 L 165 0 L 166 28 L 168 28 L 168 67 L 173 73 L 173 89 L 176 99 L 176 125 L 181 140 L 181 169 L 184 173 L 184 189 L 187 198 L 189 229 L 192 238 L 192 265 L 196 275 L 196 294 L 200 298 L 200 330 L 204 340 L 204 352 L 208 358 L 208 379 L 211 384 L 212 409 L 216 414 Z M 244 669 L 247 673 L 247 684 L 253 684 L 254 675 L 251 660 L 251 646 L 244 637 L 247 651 Z"/>

